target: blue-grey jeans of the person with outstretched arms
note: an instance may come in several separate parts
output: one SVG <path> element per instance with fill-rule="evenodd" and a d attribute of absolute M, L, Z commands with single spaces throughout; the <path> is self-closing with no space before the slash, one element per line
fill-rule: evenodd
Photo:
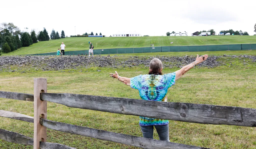
<path fill-rule="evenodd" d="M 154 125 L 156 132 L 159 136 L 159 140 L 170 141 L 169 140 L 169 125 Z M 141 126 L 141 131 L 144 138 L 153 139 L 154 126 Z"/>

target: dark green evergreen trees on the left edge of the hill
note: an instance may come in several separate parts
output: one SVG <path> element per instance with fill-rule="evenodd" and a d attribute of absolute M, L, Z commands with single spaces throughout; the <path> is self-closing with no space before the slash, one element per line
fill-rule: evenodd
<path fill-rule="evenodd" d="M 57 33 L 53 34 L 54 36 L 53 38 L 51 36 L 51 39 L 65 38 L 63 30 L 60 37 Z M 0 48 L 2 48 L 0 53 L 12 52 L 21 47 L 28 47 L 38 41 L 48 41 L 49 39 L 50 37 L 45 28 L 36 35 L 35 30 L 32 30 L 29 34 L 28 32 L 21 32 L 13 23 L 2 23 L 0 26 Z"/>

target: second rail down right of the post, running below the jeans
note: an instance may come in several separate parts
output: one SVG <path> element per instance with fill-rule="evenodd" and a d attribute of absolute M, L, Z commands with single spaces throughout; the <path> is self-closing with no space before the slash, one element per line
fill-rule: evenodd
<path fill-rule="evenodd" d="M 197 146 L 191 146 L 191 145 L 185 145 L 185 144 L 179 144 L 179 143 L 173 143 L 173 142 L 167 142 L 167 141 L 161 141 L 161 140 L 155 140 L 155 139 L 148 139 L 148 138 L 142 138 L 142 137 L 136 137 L 131 136 L 127 134 L 121 134 L 121 133 L 115 133 L 115 132 L 109 132 L 104 130 L 98 130 L 88 127 L 82 127 L 82 126 L 76 126 L 66 123 L 60 123 L 56 121 L 51 121 L 48 119 L 40 119 L 41 125 L 54 129 L 57 131 L 72 133 L 72 134 L 78 134 L 81 136 L 106 140 L 106 141 L 112 141 L 116 143 L 122 143 L 126 145 L 132 145 L 136 147 L 141 148 L 147 148 L 147 149 L 155 149 L 155 148 L 161 148 L 161 149 L 207 149 L 203 147 L 197 147 Z"/>

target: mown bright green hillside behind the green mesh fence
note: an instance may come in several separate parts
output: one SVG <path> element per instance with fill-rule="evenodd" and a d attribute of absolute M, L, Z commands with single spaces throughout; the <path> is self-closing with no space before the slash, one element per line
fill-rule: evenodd
<path fill-rule="evenodd" d="M 56 52 L 62 42 L 65 51 L 88 50 L 88 42 L 92 42 L 94 49 L 135 48 L 154 46 L 188 46 L 188 45 L 222 45 L 222 44 L 250 44 L 256 43 L 256 36 L 149 36 L 149 37 L 69 37 L 64 39 L 38 42 L 23 47 L 14 52 L 2 55 L 26 55 L 36 53 Z M 170 44 L 173 42 L 173 44 Z"/>

